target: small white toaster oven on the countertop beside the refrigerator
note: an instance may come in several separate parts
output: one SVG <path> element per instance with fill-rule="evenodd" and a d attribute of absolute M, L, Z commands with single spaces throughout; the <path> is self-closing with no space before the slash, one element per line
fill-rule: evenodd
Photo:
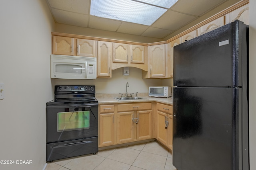
<path fill-rule="evenodd" d="M 172 88 L 168 86 L 150 86 L 148 96 L 170 98 L 172 96 Z"/>

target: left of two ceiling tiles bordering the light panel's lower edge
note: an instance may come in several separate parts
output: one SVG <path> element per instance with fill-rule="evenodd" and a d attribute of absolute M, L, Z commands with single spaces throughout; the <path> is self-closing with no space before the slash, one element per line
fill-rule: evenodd
<path fill-rule="evenodd" d="M 106 31 L 116 31 L 121 21 L 109 20 L 96 16 L 90 16 L 89 27 L 94 29 L 102 29 Z"/>

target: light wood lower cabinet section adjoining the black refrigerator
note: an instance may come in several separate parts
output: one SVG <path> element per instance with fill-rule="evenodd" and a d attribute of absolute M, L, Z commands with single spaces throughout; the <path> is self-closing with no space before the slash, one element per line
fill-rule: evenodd
<path fill-rule="evenodd" d="M 172 106 L 157 104 L 157 140 L 172 150 Z"/>

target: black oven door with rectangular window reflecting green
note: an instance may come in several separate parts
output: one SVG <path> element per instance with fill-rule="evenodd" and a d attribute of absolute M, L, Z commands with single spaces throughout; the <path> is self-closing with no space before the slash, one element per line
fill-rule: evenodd
<path fill-rule="evenodd" d="M 98 104 L 46 106 L 46 142 L 98 137 Z"/>

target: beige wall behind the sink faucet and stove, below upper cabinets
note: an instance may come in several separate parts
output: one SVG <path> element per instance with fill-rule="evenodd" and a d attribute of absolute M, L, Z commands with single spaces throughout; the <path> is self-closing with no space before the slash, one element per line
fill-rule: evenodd
<path fill-rule="evenodd" d="M 148 92 L 149 86 L 163 86 L 162 79 L 142 79 L 142 70 L 129 67 L 129 76 L 123 76 L 122 68 L 112 70 L 112 78 L 97 78 L 94 80 L 62 80 L 56 79 L 56 85 L 95 85 L 96 93 L 125 93 L 126 82 L 129 83 L 128 93 Z M 166 81 L 171 79 L 166 79 Z"/>

